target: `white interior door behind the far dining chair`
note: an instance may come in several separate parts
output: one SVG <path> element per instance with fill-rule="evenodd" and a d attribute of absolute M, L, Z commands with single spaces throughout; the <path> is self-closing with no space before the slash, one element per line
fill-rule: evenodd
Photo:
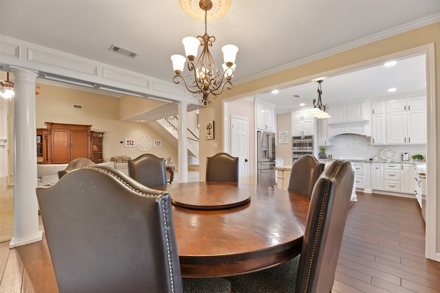
<path fill-rule="evenodd" d="M 239 182 L 248 183 L 248 119 L 231 115 L 231 156 L 239 157 Z"/>

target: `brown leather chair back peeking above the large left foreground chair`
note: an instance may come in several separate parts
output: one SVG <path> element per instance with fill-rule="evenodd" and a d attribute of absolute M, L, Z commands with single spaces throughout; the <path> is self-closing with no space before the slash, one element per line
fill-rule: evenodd
<path fill-rule="evenodd" d="M 165 159 L 154 154 L 142 154 L 127 161 L 129 176 L 148 187 L 166 185 Z"/>

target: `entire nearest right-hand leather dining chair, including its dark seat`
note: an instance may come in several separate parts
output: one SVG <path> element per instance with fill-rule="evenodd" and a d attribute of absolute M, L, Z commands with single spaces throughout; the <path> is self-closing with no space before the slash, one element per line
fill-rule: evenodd
<path fill-rule="evenodd" d="M 311 194 L 301 253 L 285 263 L 228 277 L 233 292 L 331 292 L 354 176 L 349 161 L 333 161 Z"/>

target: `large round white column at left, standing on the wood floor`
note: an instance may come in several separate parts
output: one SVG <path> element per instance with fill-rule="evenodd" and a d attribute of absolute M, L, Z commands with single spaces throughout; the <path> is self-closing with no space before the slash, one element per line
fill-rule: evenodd
<path fill-rule="evenodd" d="M 14 73 L 14 237 L 10 248 L 43 239 L 36 199 L 36 73 Z"/>

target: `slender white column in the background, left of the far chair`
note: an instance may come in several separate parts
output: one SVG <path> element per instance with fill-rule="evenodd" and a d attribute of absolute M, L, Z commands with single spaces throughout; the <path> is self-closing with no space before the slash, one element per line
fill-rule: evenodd
<path fill-rule="evenodd" d="M 187 110 L 188 104 L 179 102 L 177 104 L 179 113 L 179 141 L 177 144 L 177 152 L 179 153 L 179 182 L 188 182 L 188 146 L 186 144 L 187 128 Z"/>

